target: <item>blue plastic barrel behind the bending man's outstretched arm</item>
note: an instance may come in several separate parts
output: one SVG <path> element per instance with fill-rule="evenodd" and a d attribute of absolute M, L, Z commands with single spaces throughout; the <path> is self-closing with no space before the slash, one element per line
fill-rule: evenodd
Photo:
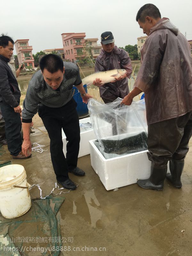
<path fill-rule="evenodd" d="M 84 84 L 84 89 L 85 92 L 87 92 L 87 85 Z M 89 115 L 89 110 L 87 108 L 87 104 L 83 103 L 83 99 L 81 98 L 81 94 L 80 92 L 78 92 L 77 88 L 73 85 L 73 90 L 74 90 L 74 94 L 73 94 L 73 99 L 76 101 L 77 103 L 77 114 L 79 116 L 79 118 L 83 118 Z"/>

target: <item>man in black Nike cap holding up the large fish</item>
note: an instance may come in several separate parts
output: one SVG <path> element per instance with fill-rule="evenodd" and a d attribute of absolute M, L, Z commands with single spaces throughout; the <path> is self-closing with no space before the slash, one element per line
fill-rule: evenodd
<path fill-rule="evenodd" d="M 126 73 L 114 82 L 100 85 L 101 80 L 96 78 L 93 84 L 100 86 L 100 96 L 105 103 L 110 103 L 118 97 L 124 98 L 129 93 L 128 78 L 132 73 L 131 59 L 124 49 L 115 46 L 113 34 L 110 31 L 101 34 L 103 49 L 95 62 L 95 72 L 111 69 L 126 69 Z"/>

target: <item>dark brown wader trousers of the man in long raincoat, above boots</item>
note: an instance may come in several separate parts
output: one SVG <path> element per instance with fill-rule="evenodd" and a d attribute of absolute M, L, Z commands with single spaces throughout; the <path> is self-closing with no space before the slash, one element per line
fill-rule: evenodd
<path fill-rule="evenodd" d="M 184 161 L 192 136 L 192 112 L 148 125 L 148 159 L 164 168 L 171 159 Z"/>

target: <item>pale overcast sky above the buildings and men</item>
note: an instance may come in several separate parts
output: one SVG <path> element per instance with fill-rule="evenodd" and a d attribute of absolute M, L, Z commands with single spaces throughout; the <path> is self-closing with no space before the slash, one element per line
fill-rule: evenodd
<path fill-rule="evenodd" d="M 169 18 L 192 40 L 192 1 L 161 0 L 32 0 L 3 1 L 0 10 L 0 34 L 13 38 L 29 39 L 33 53 L 45 49 L 62 48 L 62 33 L 85 32 L 86 38 L 98 37 L 104 31 L 112 31 L 115 44 L 137 44 L 143 36 L 136 22 L 136 14 L 144 4 L 155 4 L 162 17 Z M 14 54 L 16 52 L 14 51 Z"/>

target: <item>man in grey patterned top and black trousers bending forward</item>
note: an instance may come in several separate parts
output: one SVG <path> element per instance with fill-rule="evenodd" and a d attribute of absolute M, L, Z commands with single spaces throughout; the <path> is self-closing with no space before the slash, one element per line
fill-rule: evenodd
<path fill-rule="evenodd" d="M 84 176 L 85 172 L 77 167 L 79 153 L 80 128 L 73 99 L 73 85 L 77 87 L 83 102 L 91 98 L 83 88 L 79 69 L 74 63 L 64 62 L 54 54 L 45 55 L 40 61 L 41 70 L 37 71 L 28 85 L 23 102 L 22 152 L 27 156 L 31 152 L 30 126 L 32 117 L 37 113 L 41 117 L 50 138 L 50 153 L 57 182 L 66 189 L 76 189 L 69 179 L 68 172 Z M 61 129 L 65 132 L 67 143 L 66 159 L 63 154 Z"/>

